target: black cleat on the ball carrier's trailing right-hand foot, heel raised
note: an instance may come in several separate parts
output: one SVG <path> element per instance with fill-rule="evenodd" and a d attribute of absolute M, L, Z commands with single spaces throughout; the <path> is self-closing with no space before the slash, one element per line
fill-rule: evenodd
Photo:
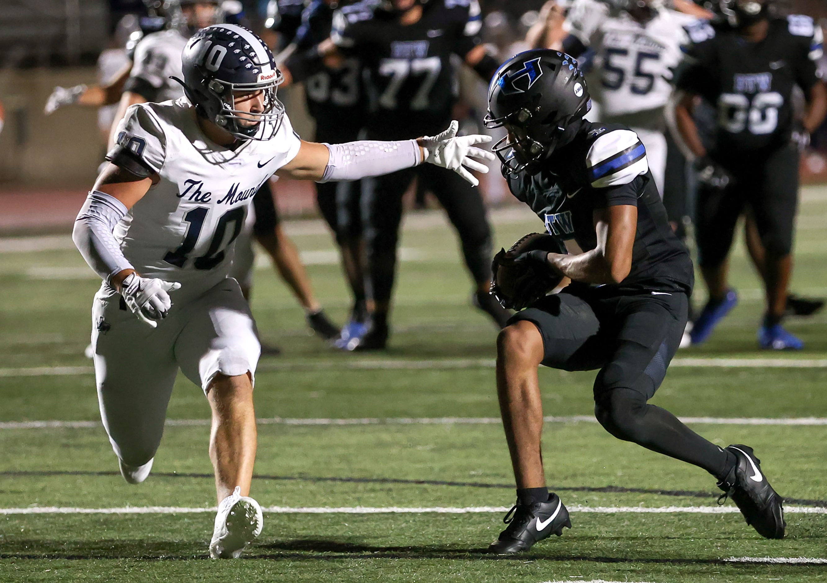
<path fill-rule="evenodd" d="M 762 474 L 761 460 L 755 456 L 752 447 L 734 445 L 726 450 L 734 453 L 738 462 L 718 484 L 724 490 L 718 504 L 724 504 L 729 496 L 758 534 L 764 538 L 784 538 L 784 500 L 772 490 L 767 476 Z"/>

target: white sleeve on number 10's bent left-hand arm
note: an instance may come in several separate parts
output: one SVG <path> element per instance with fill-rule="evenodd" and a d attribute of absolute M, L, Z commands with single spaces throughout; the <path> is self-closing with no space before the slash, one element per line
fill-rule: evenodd
<path fill-rule="evenodd" d="M 74 246 L 89 267 L 107 283 L 112 275 L 135 269 L 123 256 L 121 246 L 112 234 L 115 225 L 126 214 L 127 208 L 117 198 L 93 190 L 74 221 Z"/>

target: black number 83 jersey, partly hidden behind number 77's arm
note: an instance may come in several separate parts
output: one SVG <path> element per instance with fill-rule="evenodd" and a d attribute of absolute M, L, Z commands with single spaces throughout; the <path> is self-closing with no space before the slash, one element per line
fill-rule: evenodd
<path fill-rule="evenodd" d="M 313 0 L 304 8 L 295 38 L 298 50 L 307 50 L 330 36 L 333 12 L 324 0 Z M 336 69 L 325 67 L 304 80 L 308 112 L 316 119 L 318 135 L 328 136 L 332 126 L 337 126 L 336 133 L 342 136 L 362 127 L 361 84 L 361 65 L 356 56 L 348 56 Z"/>

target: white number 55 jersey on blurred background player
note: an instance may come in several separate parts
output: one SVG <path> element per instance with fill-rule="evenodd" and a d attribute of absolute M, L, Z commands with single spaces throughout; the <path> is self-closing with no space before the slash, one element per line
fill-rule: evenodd
<path fill-rule="evenodd" d="M 683 27 L 697 18 L 654 10 L 656 16 L 642 24 L 628 12 L 610 16 L 609 7 L 597 0 L 576 0 L 571 6 L 566 30 L 595 50 L 599 79 L 589 89 L 603 119 L 662 108 L 672 93 L 672 71 L 688 41 Z"/>

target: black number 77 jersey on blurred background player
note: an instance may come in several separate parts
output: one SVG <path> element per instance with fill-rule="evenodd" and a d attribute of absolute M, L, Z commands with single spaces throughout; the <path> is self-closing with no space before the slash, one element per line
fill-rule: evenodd
<path fill-rule="evenodd" d="M 409 138 L 445 129 L 456 98 L 451 55 L 480 44 L 476 0 L 432 0 L 418 22 L 359 2 L 337 12 L 332 39 L 366 68 L 371 133 Z"/>

